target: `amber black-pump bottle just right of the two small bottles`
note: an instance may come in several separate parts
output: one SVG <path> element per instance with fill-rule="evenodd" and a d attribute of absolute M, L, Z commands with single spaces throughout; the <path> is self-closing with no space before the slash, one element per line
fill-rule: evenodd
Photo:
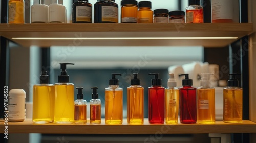
<path fill-rule="evenodd" d="M 119 87 L 119 80 L 112 74 L 109 87 L 105 88 L 105 124 L 123 123 L 123 89 Z"/>

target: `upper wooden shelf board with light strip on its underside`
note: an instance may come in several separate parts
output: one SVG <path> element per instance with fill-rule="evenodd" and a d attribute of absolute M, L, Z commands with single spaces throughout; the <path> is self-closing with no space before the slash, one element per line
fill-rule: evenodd
<path fill-rule="evenodd" d="M 60 46 L 204 46 L 224 47 L 252 33 L 252 23 L 92 23 L 92 24 L 0 24 L 0 36 L 23 47 Z M 125 40 L 13 40 L 17 37 L 110 38 L 160 37 L 160 39 Z M 238 39 L 161 39 L 161 37 L 238 37 Z"/>

